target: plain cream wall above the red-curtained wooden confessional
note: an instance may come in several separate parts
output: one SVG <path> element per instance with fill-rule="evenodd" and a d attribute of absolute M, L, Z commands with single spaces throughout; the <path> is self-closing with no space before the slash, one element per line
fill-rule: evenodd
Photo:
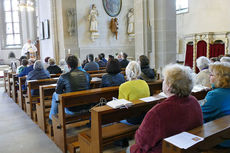
<path fill-rule="evenodd" d="M 189 12 L 177 15 L 177 52 L 185 52 L 185 35 L 230 31 L 229 6 L 229 0 L 189 0 Z"/>

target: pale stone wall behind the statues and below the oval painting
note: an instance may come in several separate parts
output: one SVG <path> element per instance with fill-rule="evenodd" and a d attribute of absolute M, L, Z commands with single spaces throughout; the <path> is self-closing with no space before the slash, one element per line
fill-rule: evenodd
<path fill-rule="evenodd" d="M 89 32 L 88 15 L 92 4 L 96 4 L 99 11 L 98 27 L 100 36 L 95 42 L 91 41 Z M 119 22 L 118 40 L 115 39 L 110 31 L 109 23 L 112 17 L 107 15 L 104 10 L 102 0 L 77 0 L 77 28 L 80 58 L 84 59 L 89 53 L 97 56 L 104 52 L 107 55 L 114 55 L 116 52 L 126 52 L 129 56 L 135 56 L 135 42 L 129 42 L 127 36 L 127 12 L 134 7 L 134 0 L 123 0 L 122 9 L 117 16 Z"/>

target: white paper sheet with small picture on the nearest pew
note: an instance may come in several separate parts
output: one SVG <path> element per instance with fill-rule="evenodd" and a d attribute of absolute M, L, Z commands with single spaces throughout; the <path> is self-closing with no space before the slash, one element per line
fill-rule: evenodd
<path fill-rule="evenodd" d="M 182 132 L 182 133 L 179 133 L 177 135 L 168 137 L 164 140 L 177 146 L 177 147 L 179 147 L 179 148 L 187 149 L 187 148 L 193 146 L 194 144 L 196 144 L 200 141 L 203 141 L 204 138 L 196 136 L 196 135 L 188 133 L 188 132 Z"/>

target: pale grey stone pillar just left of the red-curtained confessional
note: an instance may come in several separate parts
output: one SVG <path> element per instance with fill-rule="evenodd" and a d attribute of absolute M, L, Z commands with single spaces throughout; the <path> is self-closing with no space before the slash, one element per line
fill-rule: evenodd
<path fill-rule="evenodd" d="M 176 62 L 176 2 L 154 2 L 155 63 L 156 68 L 161 69 L 169 63 Z"/>

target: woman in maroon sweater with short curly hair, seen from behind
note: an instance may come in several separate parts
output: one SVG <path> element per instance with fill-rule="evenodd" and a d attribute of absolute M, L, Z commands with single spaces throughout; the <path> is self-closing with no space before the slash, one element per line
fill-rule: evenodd
<path fill-rule="evenodd" d="M 163 70 L 163 91 L 168 98 L 155 105 L 136 131 L 131 153 L 161 153 L 162 140 L 202 125 L 202 112 L 197 99 L 190 95 L 192 71 L 187 66 L 168 65 Z"/>

